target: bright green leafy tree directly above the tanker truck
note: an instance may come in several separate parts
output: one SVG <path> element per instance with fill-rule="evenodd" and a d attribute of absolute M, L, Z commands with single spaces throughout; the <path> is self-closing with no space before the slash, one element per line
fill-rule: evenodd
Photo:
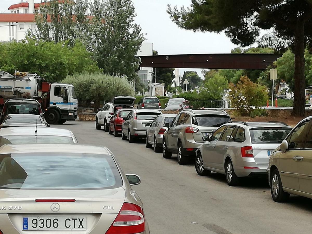
<path fill-rule="evenodd" d="M 18 55 L 18 56 L 17 56 Z M 54 41 L 2 42 L 0 43 L 0 70 L 14 73 L 37 73 L 48 82 L 59 82 L 67 75 L 83 71 L 99 72 L 92 54 L 77 41 L 72 47 Z"/>

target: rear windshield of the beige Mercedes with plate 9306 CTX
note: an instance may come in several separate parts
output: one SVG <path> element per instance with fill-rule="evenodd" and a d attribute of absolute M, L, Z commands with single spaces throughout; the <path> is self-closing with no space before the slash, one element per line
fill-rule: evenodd
<path fill-rule="evenodd" d="M 109 189 L 122 186 L 110 155 L 16 153 L 0 155 L 0 188 Z"/>

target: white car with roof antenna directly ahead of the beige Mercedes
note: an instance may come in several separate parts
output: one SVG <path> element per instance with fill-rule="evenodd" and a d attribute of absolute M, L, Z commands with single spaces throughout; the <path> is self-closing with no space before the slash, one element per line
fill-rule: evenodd
<path fill-rule="evenodd" d="M 68 129 L 12 127 L 0 129 L 0 146 L 4 144 L 78 143 L 75 135 Z"/>

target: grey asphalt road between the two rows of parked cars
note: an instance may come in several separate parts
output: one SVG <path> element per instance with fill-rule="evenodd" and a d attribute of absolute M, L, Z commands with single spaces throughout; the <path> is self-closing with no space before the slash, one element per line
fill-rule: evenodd
<path fill-rule="evenodd" d="M 79 143 L 105 145 L 124 173 L 136 173 L 142 183 L 133 188 L 144 202 L 152 234 L 167 233 L 312 233 L 312 202 L 291 196 L 272 201 L 266 180 L 244 179 L 229 187 L 225 176 L 198 176 L 194 165 L 178 165 L 176 155 L 164 159 L 145 148 L 96 130 L 94 122 L 76 121 L 52 127 L 71 129 Z"/>

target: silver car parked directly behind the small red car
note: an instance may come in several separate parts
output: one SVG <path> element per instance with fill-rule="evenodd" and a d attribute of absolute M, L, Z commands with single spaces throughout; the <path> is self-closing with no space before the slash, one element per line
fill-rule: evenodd
<path fill-rule="evenodd" d="M 132 110 L 122 123 L 121 138 L 133 143 L 135 139 L 146 138 L 146 130 L 154 119 L 161 115 L 159 110 Z"/>

